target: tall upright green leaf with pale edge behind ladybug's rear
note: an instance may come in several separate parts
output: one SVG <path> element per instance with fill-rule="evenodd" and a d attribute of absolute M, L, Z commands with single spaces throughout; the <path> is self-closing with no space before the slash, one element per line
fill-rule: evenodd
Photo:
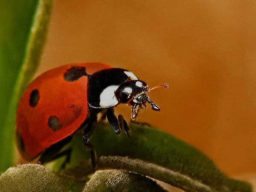
<path fill-rule="evenodd" d="M 13 164 L 17 103 L 39 64 L 52 0 L 2 0 L 0 6 L 0 171 Z"/>

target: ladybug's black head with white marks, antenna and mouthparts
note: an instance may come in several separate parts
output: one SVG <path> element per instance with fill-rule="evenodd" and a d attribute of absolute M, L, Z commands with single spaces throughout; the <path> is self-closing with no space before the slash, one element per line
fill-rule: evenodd
<path fill-rule="evenodd" d="M 151 101 L 147 93 L 157 87 L 168 87 L 168 84 L 161 84 L 153 88 L 148 88 L 148 85 L 144 81 L 126 81 L 118 87 L 115 95 L 119 103 L 127 103 L 133 106 L 131 117 L 132 119 L 135 119 L 138 116 L 140 108 L 143 108 L 143 106 L 147 108 L 145 105 L 146 103 L 151 105 L 152 110 L 160 111 L 160 107 Z"/>

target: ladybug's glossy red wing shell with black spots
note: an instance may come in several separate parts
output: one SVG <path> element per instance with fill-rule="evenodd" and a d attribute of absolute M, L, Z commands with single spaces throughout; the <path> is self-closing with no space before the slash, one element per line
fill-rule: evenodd
<path fill-rule="evenodd" d="M 49 70 L 23 93 L 17 108 L 16 141 L 26 160 L 73 134 L 88 113 L 87 75 L 106 64 L 68 64 Z"/>

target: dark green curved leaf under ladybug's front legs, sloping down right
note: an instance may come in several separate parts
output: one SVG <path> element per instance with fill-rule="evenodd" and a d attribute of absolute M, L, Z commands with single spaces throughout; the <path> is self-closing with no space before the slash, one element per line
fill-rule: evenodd
<path fill-rule="evenodd" d="M 99 157 L 101 168 L 122 168 L 151 176 L 187 191 L 196 191 L 198 187 L 202 191 L 209 191 L 208 189 L 210 191 L 252 191 L 249 184 L 227 177 L 209 157 L 172 135 L 147 126 L 130 124 L 130 127 L 131 138 L 125 133 L 117 136 L 109 125 L 98 125 L 89 143 Z M 79 168 L 73 168 L 73 171 L 79 171 L 80 175 L 81 172 L 86 172 L 81 168 L 81 164 L 78 165 L 79 161 L 89 158 L 89 153 L 85 152 L 82 147 L 81 138 L 82 133 L 77 132 L 70 143 L 71 146 L 67 146 L 73 150 L 71 156 L 73 163 L 69 165 L 71 168 L 66 173 L 71 174 L 72 166 L 79 166 Z M 108 157 L 105 161 L 109 163 L 105 163 L 100 156 L 121 156 L 123 158 L 115 160 L 113 157 Z M 125 159 L 126 156 L 128 160 Z M 138 163 L 140 160 L 142 162 Z M 153 164 L 150 165 L 150 163 Z M 85 165 L 85 163 L 82 164 Z M 148 165 L 148 168 L 145 169 L 143 164 Z"/>

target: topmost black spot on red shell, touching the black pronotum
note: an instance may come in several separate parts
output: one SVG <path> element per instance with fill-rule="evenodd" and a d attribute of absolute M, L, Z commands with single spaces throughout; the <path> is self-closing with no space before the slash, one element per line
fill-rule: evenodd
<path fill-rule="evenodd" d="M 85 67 L 81 66 L 72 66 L 67 72 L 64 74 L 65 81 L 77 81 L 82 76 L 87 76 Z"/>

